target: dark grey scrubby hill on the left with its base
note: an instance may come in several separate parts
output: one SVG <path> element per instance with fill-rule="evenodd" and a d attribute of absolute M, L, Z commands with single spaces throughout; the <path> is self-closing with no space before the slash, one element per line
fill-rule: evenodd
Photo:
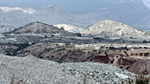
<path fill-rule="evenodd" d="M 57 28 L 53 25 L 48 25 L 41 22 L 29 23 L 11 32 L 6 32 L 4 35 L 7 37 L 5 43 L 10 42 L 12 44 L 31 44 L 40 42 L 44 39 L 48 39 L 53 42 L 62 42 L 64 38 L 77 37 L 75 33 L 71 33 L 65 31 L 63 28 Z"/>

